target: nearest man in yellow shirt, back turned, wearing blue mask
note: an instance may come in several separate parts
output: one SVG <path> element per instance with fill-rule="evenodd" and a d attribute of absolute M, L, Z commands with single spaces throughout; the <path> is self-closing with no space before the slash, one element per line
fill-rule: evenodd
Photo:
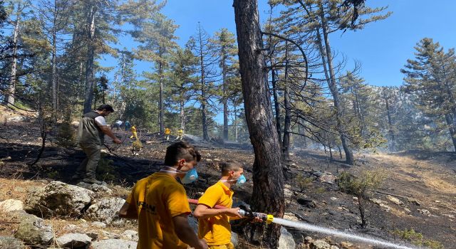
<path fill-rule="evenodd" d="M 166 149 L 165 166 L 138 181 L 120 208 L 121 218 L 138 219 L 138 249 L 206 249 L 187 221 L 191 213 L 184 187 L 198 177 L 195 166 L 201 155 L 186 142 Z"/>

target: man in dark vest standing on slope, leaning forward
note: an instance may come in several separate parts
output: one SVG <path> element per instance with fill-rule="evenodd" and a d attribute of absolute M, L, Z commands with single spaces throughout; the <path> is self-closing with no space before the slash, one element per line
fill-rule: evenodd
<path fill-rule="evenodd" d="M 87 158 L 82 161 L 73 176 L 73 180 L 81 179 L 88 184 L 102 184 L 96 179 L 98 161 L 100 161 L 101 146 L 104 144 L 105 134 L 120 144 L 120 140 L 106 124 L 105 117 L 114 112 L 110 105 L 101 105 L 95 111 L 87 112 L 81 117 L 78 127 L 78 144 L 86 153 Z"/>

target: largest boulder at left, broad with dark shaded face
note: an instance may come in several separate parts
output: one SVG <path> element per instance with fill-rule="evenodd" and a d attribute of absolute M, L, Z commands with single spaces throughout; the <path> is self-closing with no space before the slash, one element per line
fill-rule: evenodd
<path fill-rule="evenodd" d="M 79 216 L 94 196 L 88 189 L 51 181 L 28 193 L 25 210 L 39 216 Z"/>

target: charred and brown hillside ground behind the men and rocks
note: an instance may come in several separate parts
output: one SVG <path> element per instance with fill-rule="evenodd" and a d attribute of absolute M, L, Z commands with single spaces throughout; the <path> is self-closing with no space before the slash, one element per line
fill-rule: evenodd
<path fill-rule="evenodd" d="M 140 139 L 144 146 L 138 156 L 130 151 L 130 134 L 115 131 L 123 139 L 116 146 L 107 141 L 113 153 L 105 149 L 103 166 L 98 178 L 110 184 L 124 187 L 133 186 L 135 181 L 157 171 L 162 165 L 165 149 L 170 142 L 162 141 L 156 134 L 142 132 Z M 0 125 L 0 178 L 42 181 L 58 180 L 71 182 L 71 176 L 84 154 L 78 147 L 63 147 L 56 140 L 56 131 L 50 131 L 46 149 L 37 164 L 35 161 L 41 147 L 39 130 L 33 122 L 9 122 Z M 108 140 L 108 139 L 107 139 Z M 197 198 L 210 184 L 219 179 L 217 161 L 237 159 L 244 164 L 247 179 L 252 179 L 253 150 L 246 144 L 223 144 L 213 142 L 198 144 L 202 162 L 198 165 L 199 181 L 187 187 L 191 198 Z M 452 153 L 403 152 L 398 154 L 357 154 L 358 166 L 346 167 L 330 162 L 328 155 L 312 150 L 299 150 L 291 155 L 291 166 L 286 173 L 286 214 L 300 221 L 336 228 L 342 231 L 366 233 L 375 237 L 393 240 L 390 233 L 395 228 L 411 229 L 423 233 L 425 238 L 437 240 L 445 248 L 456 248 L 456 157 Z M 338 175 L 341 171 L 356 174 L 363 169 L 381 169 L 387 178 L 372 198 L 384 201 L 384 206 L 369 203 L 367 216 L 369 225 L 361 228 L 359 211 L 353 196 L 338 191 L 336 184 L 315 179 L 304 189 L 299 189 L 296 176 L 314 176 L 314 171 L 327 171 Z M 241 188 L 235 187 L 235 196 L 249 202 L 252 181 Z M 388 200 L 390 194 L 402 203 Z M 125 198 L 125 196 L 122 196 Z M 300 199 L 301 201 L 298 201 Z M 302 200 L 313 201 L 301 205 Z M 0 201 L 2 201 L 0 199 Z M 417 205 L 419 204 L 419 206 Z M 0 224 L 1 226 L 1 224 Z M 306 231 L 294 231 L 296 242 L 306 235 L 324 238 Z M 337 238 L 331 238 L 338 240 Z M 356 243 L 355 243 L 356 244 Z M 360 245 L 368 248 L 367 245 Z"/>

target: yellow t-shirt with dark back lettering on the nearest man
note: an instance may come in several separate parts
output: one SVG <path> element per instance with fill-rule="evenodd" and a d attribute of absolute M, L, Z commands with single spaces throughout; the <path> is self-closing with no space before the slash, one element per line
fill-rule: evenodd
<path fill-rule="evenodd" d="M 138 212 L 138 249 L 187 248 L 172 223 L 173 217 L 191 213 L 187 193 L 176 179 L 162 172 L 141 179 L 127 202 Z"/>

